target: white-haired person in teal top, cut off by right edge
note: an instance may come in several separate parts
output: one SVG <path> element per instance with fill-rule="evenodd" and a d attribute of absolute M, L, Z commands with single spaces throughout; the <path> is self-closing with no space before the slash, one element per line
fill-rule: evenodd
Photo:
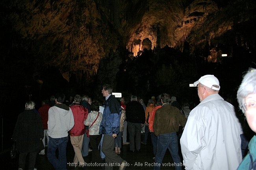
<path fill-rule="evenodd" d="M 256 69 L 250 68 L 244 75 L 237 91 L 239 108 L 253 132 L 256 132 Z M 256 170 L 256 136 L 249 143 L 249 153 L 245 156 L 237 170 Z"/>

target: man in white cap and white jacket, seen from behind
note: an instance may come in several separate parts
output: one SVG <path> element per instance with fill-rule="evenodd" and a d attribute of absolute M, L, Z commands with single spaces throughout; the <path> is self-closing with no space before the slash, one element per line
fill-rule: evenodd
<path fill-rule="evenodd" d="M 218 94 L 214 75 L 204 75 L 194 85 L 200 104 L 190 112 L 180 139 L 185 169 L 236 170 L 242 161 L 243 132 L 234 106 Z"/>

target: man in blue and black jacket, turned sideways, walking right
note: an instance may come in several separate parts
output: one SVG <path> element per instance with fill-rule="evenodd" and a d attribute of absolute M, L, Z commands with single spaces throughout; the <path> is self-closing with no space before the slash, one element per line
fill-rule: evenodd
<path fill-rule="evenodd" d="M 114 152 L 114 140 L 119 133 L 121 106 L 115 99 L 115 95 L 112 95 L 112 90 L 109 84 L 105 84 L 102 88 L 102 95 L 106 97 L 106 105 L 99 134 L 104 134 L 102 152 L 106 155 L 105 170 L 113 170 L 113 166 L 119 166 L 119 170 L 124 170 L 127 162 Z"/>

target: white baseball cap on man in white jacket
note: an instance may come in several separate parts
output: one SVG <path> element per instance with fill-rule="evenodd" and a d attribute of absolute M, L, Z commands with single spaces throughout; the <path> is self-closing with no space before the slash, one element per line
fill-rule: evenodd
<path fill-rule="evenodd" d="M 194 82 L 194 85 L 197 86 L 197 84 L 203 84 L 204 86 L 211 88 L 213 90 L 220 90 L 221 86 L 219 86 L 219 80 L 214 75 L 204 75 L 200 77 L 199 80 Z M 219 86 L 219 88 L 214 87 L 213 85 Z"/>

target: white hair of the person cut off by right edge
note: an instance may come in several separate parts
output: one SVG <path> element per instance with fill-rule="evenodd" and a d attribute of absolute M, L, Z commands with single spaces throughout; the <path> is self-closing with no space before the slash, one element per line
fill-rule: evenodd
<path fill-rule="evenodd" d="M 242 106 L 245 102 L 245 98 L 252 93 L 256 93 L 256 69 L 254 68 L 250 68 L 243 76 L 243 80 L 237 90 L 237 101 L 243 113 L 245 110 L 242 109 Z"/>

